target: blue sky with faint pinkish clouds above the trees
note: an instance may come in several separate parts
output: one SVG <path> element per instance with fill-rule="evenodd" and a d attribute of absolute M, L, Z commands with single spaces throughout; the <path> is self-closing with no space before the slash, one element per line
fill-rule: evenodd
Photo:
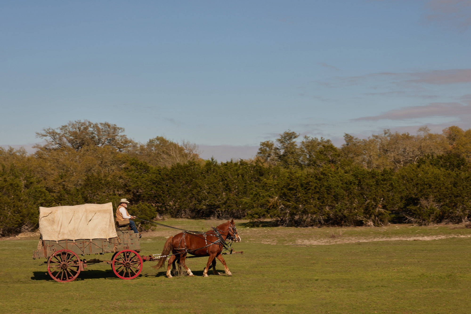
<path fill-rule="evenodd" d="M 470 0 L 1 1 L 0 145 L 79 119 L 219 160 L 470 128 L 470 26 Z"/>

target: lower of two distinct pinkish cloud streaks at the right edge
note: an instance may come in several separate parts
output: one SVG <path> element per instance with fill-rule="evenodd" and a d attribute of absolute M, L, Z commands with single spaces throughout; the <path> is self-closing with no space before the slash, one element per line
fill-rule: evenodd
<path fill-rule="evenodd" d="M 378 116 L 364 116 L 352 121 L 407 120 L 432 116 L 459 117 L 471 115 L 471 106 L 459 102 L 432 102 L 426 106 L 411 106 L 387 111 Z"/>

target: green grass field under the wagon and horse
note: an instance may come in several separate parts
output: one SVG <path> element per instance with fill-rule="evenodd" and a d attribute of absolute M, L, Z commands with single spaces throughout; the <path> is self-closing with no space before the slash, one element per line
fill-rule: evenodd
<path fill-rule="evenodd" d="M 218 224 L 165 223 L 194 230 Z M 39 265 L 44 259 L 31 258 L 37 236 L 1 240 L 0 313 L 471 312 L 471 229 L 463 226 L 237 228 L 242 242 L 234 246 L 245 254 L 225 256 L 232 277 L 210 271 L 203 278 L 206 258 L 192 258 L 196 277 L 168 279 L 146 262 L 140 277 L 126 281 L 102 263 L 58 283 Z M 160 253 L 175 233 L 146 233 L 142 254 Z"/>

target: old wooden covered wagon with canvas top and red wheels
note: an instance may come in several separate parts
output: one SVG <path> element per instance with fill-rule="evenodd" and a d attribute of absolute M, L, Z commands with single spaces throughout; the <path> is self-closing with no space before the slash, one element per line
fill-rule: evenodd
<path fill-rule="evenodd" d="M 89 264 L 111 264 L 122 279 L 136 278 L 142 270 L 139 234 L 114 222 L 112 203 L 39 208 L 41 237 L 33 259 L 47 258 L 55 281 L 73 281 Z M 114 253 L 111 260 L 85 255 Z"/>

